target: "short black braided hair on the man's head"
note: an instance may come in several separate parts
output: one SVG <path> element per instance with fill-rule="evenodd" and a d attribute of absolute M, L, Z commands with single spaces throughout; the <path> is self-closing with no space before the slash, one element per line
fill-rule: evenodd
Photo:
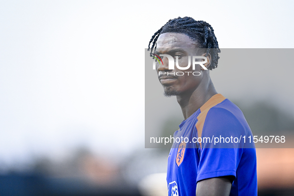
<path fill-rule="evenodd" d="M 150 44 L 152 43 L 150 56 L 152 56 L 151 53 L 153 49 L 156 50 L 157 39 L 159 35 L 163 33 L 183 33 L 188 35 L 193 41 L 197 43 L 199 48 L 206 49 L 205 56 L 207 56 L 208 54 L 211 55 L 211 64 L 209 66 L 209 69 L 212 70 L 217 67 L 217 62 L 219 59 L 218 53 L 220 52 L 220 49 L 218 48 L 218 43 L 214 35 L 214 30 L 207 22 L 202 20 L 196 21 L 192 17 L 187 16 L 183 18 L 178 17 L 170 19 L 151 37 L 148 45 L 149 51 Z M 210 50 L 211 48 L 215 49 Z"/>

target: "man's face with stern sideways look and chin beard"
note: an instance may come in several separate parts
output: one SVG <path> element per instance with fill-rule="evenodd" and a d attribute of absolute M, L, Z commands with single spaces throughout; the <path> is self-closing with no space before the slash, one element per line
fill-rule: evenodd
<path fill-rule="evenodd" d="M 178 56 L 179 67 L 187 67 L 189 56 L 191 62 L 192 56 L 204 56 L 201 52 L 199 53 L 196 48 L 197 45 L 195 41 L 191 40 L 186 34 L 163 33 L 158 37 L 155 54 L 168 54 L 171 55 L 174 60 L 176 60 Z M 206 66 L 210 64 L 208 56 L 207 60 L 208 62 L 206 63 Z M 159 76 L 159 81 L 164 88 L 165 95 L 168 97 L 194 92 L 202 81 L 203 73 L 208 72 L 208 70 L 203 70 L 200 65 L 196 65 L 195 70 L 193 70 L 192 65 L 187 70 L 178 69 L 176 65 L 173 70 L 170 70 L 168 58 L 162 57 L 162 62 L 163 64 L 156 64 L 156 71 Z M 163 72 L 166 74 L 162 74 Z M 181 72 L 184 72 L 184 75 L 177 76 L 177 74 L 182 75 Z M 197 72 L 200 72 L 200 75 L 194 76 L 198 75 Z"/>

